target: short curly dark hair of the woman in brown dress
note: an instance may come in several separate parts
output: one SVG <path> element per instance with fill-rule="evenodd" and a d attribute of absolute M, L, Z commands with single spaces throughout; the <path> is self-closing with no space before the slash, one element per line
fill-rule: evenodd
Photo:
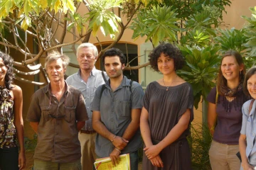
<path fill-rule="evenodd" d="M 149 54 L 149 63 L 151 68 L 154 69 L 156 72 L 159 72 L 157 67 L 157 60 L 160 57 L 161 53 L 164 53 L 165 56 L 174 59 L 174 67 L 175 70 L 181 69 L 185 64 L 185 60 L 183 55 L 181 54 L 181 50 L 170 43 L 162 43 L 161 45 L 154 48 L 153 51 Z"/>

